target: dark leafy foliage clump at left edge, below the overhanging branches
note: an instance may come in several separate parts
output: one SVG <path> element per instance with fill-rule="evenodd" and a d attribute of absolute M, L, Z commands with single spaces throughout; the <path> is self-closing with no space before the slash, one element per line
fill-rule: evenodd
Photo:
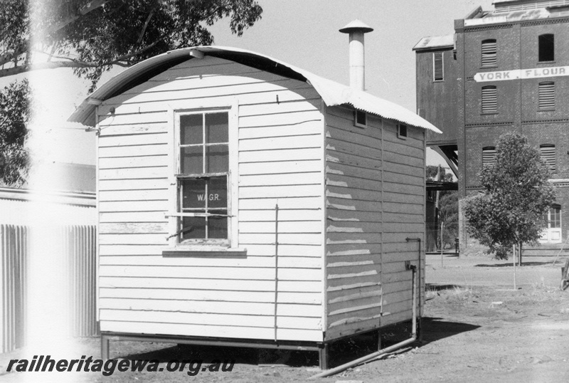
<path fill-rule="evenodd" d="M 20 186 L 28 169 L 28 136 L 30 118 L 28 81 L 18 81 L 0 91 L 0 181 Z"/>

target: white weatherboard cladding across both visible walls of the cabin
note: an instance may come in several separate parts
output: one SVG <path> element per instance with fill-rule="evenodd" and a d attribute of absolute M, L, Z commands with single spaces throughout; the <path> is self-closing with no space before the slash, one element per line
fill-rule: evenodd
<path fill-rule="evenodd" d="M 185 54 L 122 93 L 116 89 L 126 78 L 103 85 L 93 109 L 101 330 L 272 340 L 275 279 L 278 340 L 318 342 L 409 320 L 411 272 L 403 261 L 424 265 L 418 243 L 405 238 L 424 233 L 425 131 L 410 125 L 402 140 L 396 120 L 375 115 L 355 127 L 345 102 L 322 103 L 323 92 L 341 98 L 334 89 L 343 85 Z M 344 88 L 356 105 L 377 100 Z M 169 113 L 231 100 L 238 103 L 237 245 L 247 256 L 164 257 Z M 90 113 L 84 106 L 75 119 Z"/>

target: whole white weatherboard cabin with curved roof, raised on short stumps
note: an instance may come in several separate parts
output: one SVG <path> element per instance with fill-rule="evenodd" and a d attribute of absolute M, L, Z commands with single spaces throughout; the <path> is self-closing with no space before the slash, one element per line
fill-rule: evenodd
<path fill-rule="evenodd" d="M 105 357 L 169 340 L 319 350 L 326 368 L 330 342 L 411 320 L 438 132 L 418 115 L 200 46 L 124 70 L 70 120 L 99 132 Z"/>

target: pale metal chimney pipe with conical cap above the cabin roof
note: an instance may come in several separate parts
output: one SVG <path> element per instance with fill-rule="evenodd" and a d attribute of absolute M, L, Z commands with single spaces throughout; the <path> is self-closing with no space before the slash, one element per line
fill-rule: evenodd
<path fill-rule="evenodd" d="M 350 36 L 350 88 L 357 90 L 366 88 L 363 34 L 371 31 L 373 28 L 359 20 L 354 20 L 340 29 L 341 33 L 349 33 Z"/>

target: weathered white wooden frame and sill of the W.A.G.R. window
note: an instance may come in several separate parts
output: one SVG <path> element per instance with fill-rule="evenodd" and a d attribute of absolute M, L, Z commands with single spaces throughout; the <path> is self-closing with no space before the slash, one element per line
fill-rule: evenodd
<path fill-rule="evenodd" d="M 168 243 L 169 248 L 166 248 L 162 253 L 164 256 L 184 256 L 197 252 L 207 253 L 208 255 L 216 254 L 229 254 L 231 252 L 243 254 L 245 249 L 238 248 L 238 116 L 237 116 L 237 103 L 232 105 L 218 106 L 208 105 L 205 103 L 202 107 L 191 109 L 169 109 L 169 127 L 170 127 L 170 140 L 169 140 L 169 211 L 166 213 L 166 218 L 169 219 L 169 234 Z M 226 174 L 228 179 L 228 238 L 211 238 L 211 239 L 192 239 L 186 241 L 179 241 L 179 220 L 181 216 L 187 215 L 181 212 L 180 196 L 179 196 L 179 182 L 181 179 L 191 177 L 191 174 L 181 174 L 179 171 L 181 164 L 180 154 L 180 116 L 191 114 L 204 114 L 215 112 L 228 113 L 228 172 Z M 206 174 L 212 175 L 212 174 Z M 213 174 L 216 176 L 218 174 Z M 200 175 L 196 175 L 196 179 Z M 190 214 L 191 215 L 191 214 Z M 200 215 L 200 214 L 198 214 Z"/>

